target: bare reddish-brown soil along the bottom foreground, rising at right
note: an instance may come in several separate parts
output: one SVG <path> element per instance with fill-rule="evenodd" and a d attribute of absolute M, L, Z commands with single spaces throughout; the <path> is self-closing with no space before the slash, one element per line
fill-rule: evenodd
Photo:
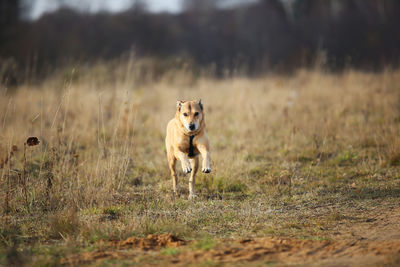
<path fill-rule="evenodd" d="M 330 240 L 300 240 L 263 237 L 220 240 L 211 249 L 196 249 L 171 234 L 102 241 L 102 249 L 71 255 L 63 264 L 97 265 L 106 260 L 152 265 L 313 265 L 313 266 L 399 266 L 400 208 L 375 209 L 365 222 L 338 225 Z M 176 248 L 165 253 L 165 248 Z M 164 250 L 163 250 L 164 249 Z M 164 253 L 163 253 L 164 251 Z"/>

